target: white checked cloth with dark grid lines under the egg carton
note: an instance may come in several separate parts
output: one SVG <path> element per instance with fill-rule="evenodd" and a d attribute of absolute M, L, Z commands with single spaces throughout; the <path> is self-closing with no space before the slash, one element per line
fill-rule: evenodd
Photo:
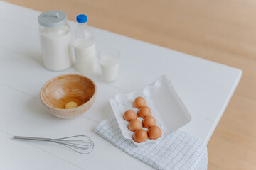
<path fill-rule="evenodd" d="M 165 135 L 157 144 L 149 142 L 142 147 L 124 139 L 115 118 L 103 120 L 95 132 L 155 169 L 207 169 L 206 143 L 181 130 Z"/>

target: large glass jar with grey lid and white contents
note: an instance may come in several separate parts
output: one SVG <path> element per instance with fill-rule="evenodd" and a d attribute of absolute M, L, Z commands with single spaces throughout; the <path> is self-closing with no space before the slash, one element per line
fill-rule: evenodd
<path fill-rule="evenodd" d="M 60 71 L 72 66 L 70 26 L 63 11 L 46 11 L 38 17 L 41 53 L 46 69 Z"/>

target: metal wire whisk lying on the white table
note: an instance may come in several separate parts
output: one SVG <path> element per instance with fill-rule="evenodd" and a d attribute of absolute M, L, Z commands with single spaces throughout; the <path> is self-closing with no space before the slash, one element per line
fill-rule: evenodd
<path fill-rule="evenodd" d="M 23 136 L 14 136 L 14 140 L 38 140 L 46 142 L 55 142 L 64 147 L 73 149 L 75 152 L 80 154 L 90 154 L 94 148 L 94 143 L 85 135 L 76 135 L 70 137 L 63 137 L 58 139 L 42 138 L 42 137 L 23 137 Z"/>

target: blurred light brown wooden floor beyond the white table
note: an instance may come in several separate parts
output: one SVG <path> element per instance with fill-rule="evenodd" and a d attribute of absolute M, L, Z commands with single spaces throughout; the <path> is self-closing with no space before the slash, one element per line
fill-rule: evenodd
<path fill-rule="evenodd" d="M 208 169 L 256 169 L 256 1 L 6 0 L 242 69 L 243 75 L 208 143 Z"/>

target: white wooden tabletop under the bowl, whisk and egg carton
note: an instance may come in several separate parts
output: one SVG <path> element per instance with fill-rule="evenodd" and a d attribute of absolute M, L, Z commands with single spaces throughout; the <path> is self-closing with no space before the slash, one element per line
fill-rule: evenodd
<path fill-rule="evenodd" d="M 241 70 L 198 57 L 92 28 L 97 50 L 121 52 L 119 78 L 106 84 L 97 77 L 97 98 L 90 111 L 71 120 L 50 115 L 39 99 L 41 86 L 70 68 L 50 72 L 43 67 L 38 35 L 38 11 L 0 1 L 0 169 L 150 169 L 93 132 L 113 116 L 108 98 L 141 90 L 166 75 L 192 115 L 182 130 L 206 142 L 210 139 L 241 77 Z M 69 22 L 72 31 L 76 24 Z M 82 155 L 45 142 L 21 142 L 13 135 L 66 137 L 88 135 L 95 142 Z"/>

